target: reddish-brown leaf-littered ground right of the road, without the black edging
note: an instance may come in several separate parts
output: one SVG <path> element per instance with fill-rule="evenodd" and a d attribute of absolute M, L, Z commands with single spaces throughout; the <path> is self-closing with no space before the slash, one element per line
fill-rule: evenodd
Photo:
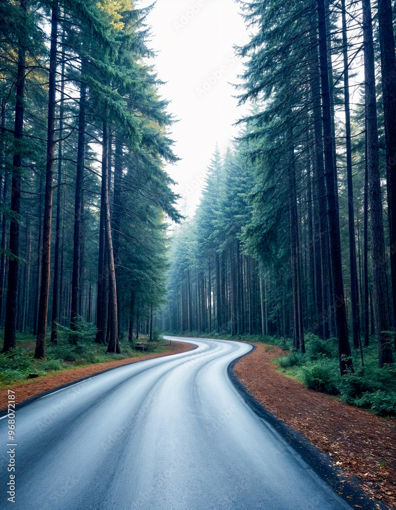
<path fill-rule="evenodd" d="M 282 349 L 254 345 L 256 349 L 234 367 L 248 391 L 277 418 L 327 452 L 347 476 L 357 475 L 367 494 L 396 507 L 396 419 L 376 416 L 306 388 L 274 363 L 284 356 Z"/>

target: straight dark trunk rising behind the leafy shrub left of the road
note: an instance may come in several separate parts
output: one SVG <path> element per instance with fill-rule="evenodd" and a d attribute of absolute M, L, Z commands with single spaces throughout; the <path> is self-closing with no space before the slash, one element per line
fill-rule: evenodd
<path fill-rule="evenodd" d="M 82 72 L 83 72 L 82 63 Z M 83 77 L 84 79 L 84 77 Z M 83 205 L 84 182 L 84 152 L 85 152 L 85 110 L 87 86 L 84 82 L 80 86 L 80 112 L 78 114 L 78 142 L 77 142 L 77 170 L 74 200 L 74 239 L 73 239 L 73 269 L 71 279 L 71 317 L 70 329 L 76 330 L 78 315 L 78 298 L 80 296 L 80 257 L 81 257 L 81 218 Z M 70 342 L 75 344 L 76 337 L 72 335 Z"/>

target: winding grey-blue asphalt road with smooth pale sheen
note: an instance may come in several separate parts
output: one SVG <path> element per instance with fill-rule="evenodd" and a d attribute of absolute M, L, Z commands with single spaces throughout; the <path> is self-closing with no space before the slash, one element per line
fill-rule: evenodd
<path fill-rule="evenodd" d="M 122 366 L 20 407 L 15 504 L 7 501 L 8 423 L 0 419 L 0 508 L 351 508 L 233 387 L 227 367 L 251 346 L 183 340 L 198 348 Z"/>

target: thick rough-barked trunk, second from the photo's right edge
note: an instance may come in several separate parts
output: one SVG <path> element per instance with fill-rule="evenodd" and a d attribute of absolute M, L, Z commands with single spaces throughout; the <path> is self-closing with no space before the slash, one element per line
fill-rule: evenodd
<path fill-rule="evenodd" d="M 371 212 L 371 252 L 373 267 L 373 298 L 378 364 L 393 362 L 389 331 L 389 308 L 386 277 L 385 239 L 382 218 L 381 181 L 378 155 L 378 125 L 375 84 L 373 25 L 370 0 L 362 0 L 364 81 L 366 107 L 367 168 Z"/>

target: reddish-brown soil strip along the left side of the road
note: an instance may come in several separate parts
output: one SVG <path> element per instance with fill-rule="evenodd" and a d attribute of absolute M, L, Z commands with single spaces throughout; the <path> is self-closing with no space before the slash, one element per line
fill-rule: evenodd
<path fill-rule="evenodd" d="M 69 382 L 83 379 L 90 375 L 108 370 L 109 368 L 121 367 L 122 365 L 128 365 L 129 363 L 136 363 L 143 360 L 151 360 L 152 358 L 160 358 L 161 356 L 169 356 L 171 354 L 179 354 L 180 352 L 187 352 L 194 349 L 194 345 L 183 342 L 174 342 L 165 353 L 157 354 L 143 354 L 136 356 L 136 358 L 126 358 L 125 360 L 108 361 L 105 363 L 97 363 L 95 365 L 89 365 L 88 367 L 72 368 L 70 370 L 64 370 L 57 374 L 46 375 L 32 379 L 29 382 L 23 382 L 12 386 L 6 390 L 0 390 L 0 410 L 6 409 L 8 405 L 8 390 L 15 391 L 16 402 L 22 402 L 28 398 L 44 393 L 45 391 L 58 388 L 68 384 Z"/>

